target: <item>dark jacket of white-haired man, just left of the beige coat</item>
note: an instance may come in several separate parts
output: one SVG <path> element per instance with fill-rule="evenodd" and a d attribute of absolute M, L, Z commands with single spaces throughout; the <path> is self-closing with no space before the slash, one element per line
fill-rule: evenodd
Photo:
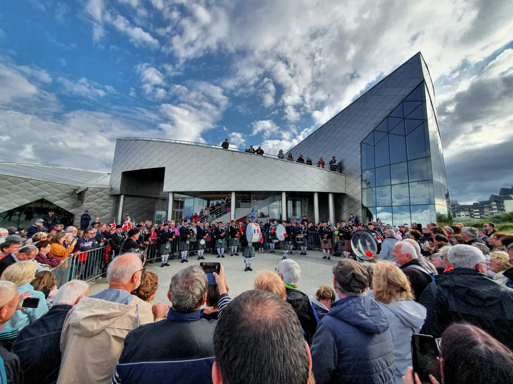
<path fill-rule="evenodd" d="M 57 382 L 61 368 L 61 331 L 71 305 L 55 305 L 18 333 L 13 352 L 19 356 L 24 384 Z"/>

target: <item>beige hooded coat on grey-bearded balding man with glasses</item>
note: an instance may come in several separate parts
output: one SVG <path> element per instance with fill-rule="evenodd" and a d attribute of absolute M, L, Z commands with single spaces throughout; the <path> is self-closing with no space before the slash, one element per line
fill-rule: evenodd
<path fill-rule="evenodd" d="M 151 305 L 133 296 L 131 305 L 84 297 L 66 316 L 57 384 L 108 384 L 128 332 L 153 323 Z"/>

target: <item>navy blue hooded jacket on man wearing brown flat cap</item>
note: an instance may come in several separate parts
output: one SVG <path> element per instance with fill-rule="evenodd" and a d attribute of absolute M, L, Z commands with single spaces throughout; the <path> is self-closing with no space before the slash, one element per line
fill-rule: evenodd
<path fill-rule="evenodd" d="M 317 384 L 393 384 L 394 354 L 388 320 L 376 300 L 349 296 L 334 302 L 311 346 Z"/>

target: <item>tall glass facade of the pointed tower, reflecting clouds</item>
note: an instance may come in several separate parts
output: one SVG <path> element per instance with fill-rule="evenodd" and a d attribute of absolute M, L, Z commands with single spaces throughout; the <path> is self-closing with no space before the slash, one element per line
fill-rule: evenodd
<path fill-rule="evenodd" d="M 451 221 L 442 144 L 425 82 L 361 142 L 362 219 Z"/>

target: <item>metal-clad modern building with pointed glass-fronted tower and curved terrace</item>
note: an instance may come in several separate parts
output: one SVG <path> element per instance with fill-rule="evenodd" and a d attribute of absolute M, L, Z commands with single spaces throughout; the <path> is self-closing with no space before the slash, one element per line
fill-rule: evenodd
<path fill-rule="evenodd" d="M 307 216 L 314 222 L 334 223 L 353 214 L 365 222 L 379 218 L 394 225 L 437 219 L 447 222 L 452 217 L 435 92 L 420 53 L 290 152 L 294 159 L 300 154 L 312 158 L 314 165 L 236 148 L 224 150 L 218 145 L 119 139 L 105 206 L 88 199 L 106 185 L 75 180 L 64 183 L 73 187 L 70 190 L 76 196 L 68 197 L 74 200 L 59 199 L 57 203 L 43 194 L 25 197 L 23 190 L 23 201 L 12 194 L 0 199 L 0 223 L 6 211 L 16 212 L 21 205 L 42 198 L 75 215 L 75 223 L 83 207 L 92 215 L 97 208 L 98 215 L 115 216 L 117 221 L 126 212 L 136 221 L 160 222 L 189 219 L 218 202 L 222 209 L 215 209 L 209 219 L 244 220 L 252 211 L 264 221 Z M 332 156 L 337 159 L 334 166 L 328 165 Z M 320 157 L 326 161 L 325 169 L 315 166 Z M 82 172 L 88 175 L 90 171 Z M 55 184 L 51 175 L 43 181 Z M 88 191 L 79 201 L 76 190 L 84 188 Z"/>

